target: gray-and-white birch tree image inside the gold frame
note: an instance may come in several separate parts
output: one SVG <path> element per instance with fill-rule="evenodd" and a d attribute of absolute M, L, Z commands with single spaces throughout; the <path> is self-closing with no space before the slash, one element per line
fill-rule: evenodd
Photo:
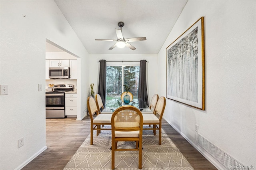
<path fill-rule="evenodd" d="M 168 95 L 198 102 L 198 27 L 167 51 Z"/>

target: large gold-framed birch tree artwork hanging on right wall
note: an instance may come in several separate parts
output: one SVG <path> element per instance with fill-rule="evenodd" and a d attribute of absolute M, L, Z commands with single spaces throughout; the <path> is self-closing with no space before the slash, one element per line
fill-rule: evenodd
<path fill-rule="evenodd" d="M 204 17 L 166 48 L 166 98 L 204 110 Z"/>

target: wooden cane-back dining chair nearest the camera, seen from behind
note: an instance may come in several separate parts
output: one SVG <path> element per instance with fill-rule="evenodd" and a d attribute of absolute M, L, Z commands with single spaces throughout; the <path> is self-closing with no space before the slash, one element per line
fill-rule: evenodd
<path fill-rule="evenodd" d="M 115 151 L 138 150 L 138 168 L 142 168 L 142 128 L 143 117 L 139 109 L 125 105 L 116 109 L 111 118 L 112 127 L 112 170 L 115 169 Z M 135 141 L 135 148 L 122 146 L 118 148 L 117 142 Z"/>

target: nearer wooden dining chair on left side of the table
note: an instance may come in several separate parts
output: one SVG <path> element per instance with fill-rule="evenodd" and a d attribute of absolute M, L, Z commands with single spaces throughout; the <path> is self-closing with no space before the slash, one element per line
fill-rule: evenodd
<path fill-rule="evenodd" d="M 112 114 L 99 114 L 96 102 L 92 96 L 87 99 L 88 112 L 91 119 L 91 142 L 93 144 L 93 130 L 97 130 L 97 135 L 99 135 L 100 130 L 111 130 L 111 128 L 101 128 L 101 125 L 111 125 Z M 96 117 L 93 117 L 96 113 Z"/>

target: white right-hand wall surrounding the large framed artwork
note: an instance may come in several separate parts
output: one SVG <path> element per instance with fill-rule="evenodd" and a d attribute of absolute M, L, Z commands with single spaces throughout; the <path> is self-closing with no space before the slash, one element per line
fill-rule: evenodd
<path fill-rule="evenodd" d="M 188 0 L 158 53 L 158 91 L 166 96 L 166 47 L 205 17 L 206 109 L 167 99 L 164 119 L 200 150 L 195 132 L 195 125 L 199 125 L 202 136 L 242 164 L 254 167 L 255 9 L 255 0 Z"/>

